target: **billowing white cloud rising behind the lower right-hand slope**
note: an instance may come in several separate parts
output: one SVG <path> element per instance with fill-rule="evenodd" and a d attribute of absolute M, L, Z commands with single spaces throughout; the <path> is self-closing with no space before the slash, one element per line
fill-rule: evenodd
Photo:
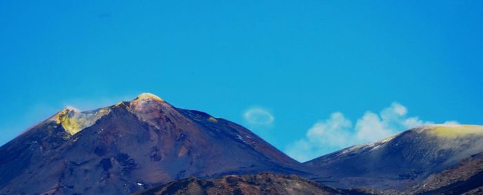
<path fill-rule="evenodd" d="M 417 116 L 406 116 L 408 110 L 400 103 L 392 103 L 379 114 L 367 111 L 355 125 L 341 112 L 315 123 L 306 136 L 286 147 L 286 154 L 298 161 L 308 161 L 336 150 L 386 138 L 420 125 L 431 124 Z M 457 123 L 448 121 L 446 123 Z"/>

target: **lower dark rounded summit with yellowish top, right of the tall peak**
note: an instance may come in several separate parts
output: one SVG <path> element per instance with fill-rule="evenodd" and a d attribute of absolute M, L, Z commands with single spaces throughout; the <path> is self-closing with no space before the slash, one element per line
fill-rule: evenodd
<path fill-rule="evenodd" d="M 406 190 L 483 152 L 483 126 L 426 125 L 304 163 L 334 187 Z"/>

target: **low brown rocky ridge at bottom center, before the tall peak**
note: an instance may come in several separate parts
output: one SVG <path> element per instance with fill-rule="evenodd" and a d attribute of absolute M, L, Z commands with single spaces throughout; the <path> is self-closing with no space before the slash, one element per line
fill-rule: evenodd
<path fill-rule="evenodd" d="M 299 176 L 257 174 L 211 179 L 185 178 L 138 194 L 346 194 Z"/>

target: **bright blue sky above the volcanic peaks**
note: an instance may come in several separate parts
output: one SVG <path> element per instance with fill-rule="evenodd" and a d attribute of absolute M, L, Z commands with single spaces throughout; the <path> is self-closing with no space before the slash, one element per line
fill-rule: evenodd
<path fill-rule="evenodd" d="M 333 121 L 349 121 L 341 136 L 353 137 L 357 121 L 374 114 L 386 132 L 415 116 L 482 124 L 482 8 L 483 1 L 1 1 L 0 145 L 66 105 L 87 110 L 141 92 L 245 125 L 288 153 L 340 132 L 327 126 Z M 324 134 L 309 136 L 314 127 Z M 310 146 L 295 158 L 375 138 Z"/>

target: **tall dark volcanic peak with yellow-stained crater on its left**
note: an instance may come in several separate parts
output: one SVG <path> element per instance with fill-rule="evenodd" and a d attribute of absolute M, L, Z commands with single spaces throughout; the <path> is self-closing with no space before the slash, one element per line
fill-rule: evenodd
<path fill-rule="evenodd" d="M 66 107 L 0 147 L 0 194 L 128 194 L 188 176 L 306 174 L 244 127 L 154 94 Z"/>

